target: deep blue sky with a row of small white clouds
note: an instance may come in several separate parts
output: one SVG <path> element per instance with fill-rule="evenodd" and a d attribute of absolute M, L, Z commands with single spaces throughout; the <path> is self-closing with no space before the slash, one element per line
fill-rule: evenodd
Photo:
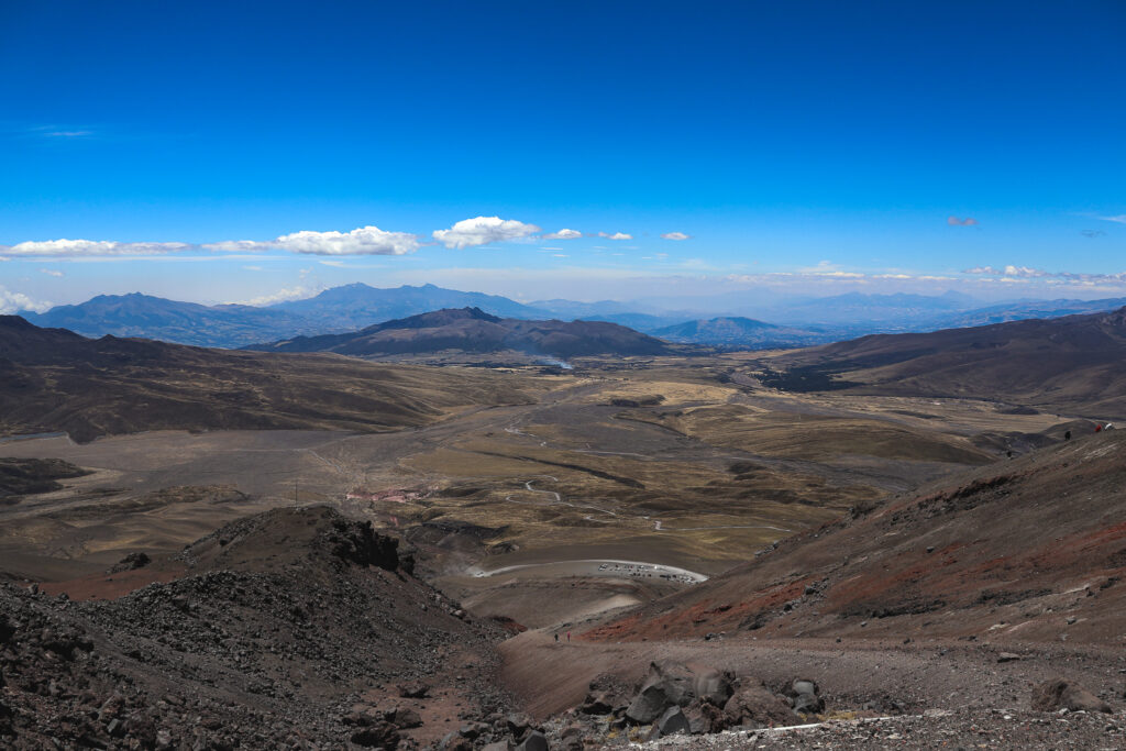
<path fill-rule="evenodd" d="M 28 0 L 0 30 L 0 311 L 1126 295 L 1118 0 Z"/>

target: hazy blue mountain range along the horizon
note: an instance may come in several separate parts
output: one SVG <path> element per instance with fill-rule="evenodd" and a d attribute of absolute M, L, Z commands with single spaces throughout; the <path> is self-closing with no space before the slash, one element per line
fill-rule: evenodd
<path fill-rule="evenodd" d="M 863 295 L 783 298 L 759 293 L 714 297 L 518 303 L 499 295 L 435 285 L 381 289 L 350 284 L 314 297 L 251 305 L 199 305 L 134 293 L 99 295 L 46 313 L 21 312 L 41 327 L 87 337 L 142 337 L 202 347 L 239 348 L 260 342 L 346 333 L 376 323 L 443 309 L 475 307 L 503 319 L 602 321 L 670 341 L 730 348 L 803 347 L 869 333 L 933 331 L 1031 318 L 1112 310 L 1126 298 L 1020 299 L 982 306 L 965 295 Z M 774 328 L 770 328 L 774 327 Z"/>

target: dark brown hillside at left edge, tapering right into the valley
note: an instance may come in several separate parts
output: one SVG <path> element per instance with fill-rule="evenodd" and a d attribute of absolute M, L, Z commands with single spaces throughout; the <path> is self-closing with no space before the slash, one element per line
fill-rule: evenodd
<path fill-rule="evenodd" d="M 0 316 L 0 435 L 65 431 L 87 441 L 161 429 L 369 432 L 528 403 L 542 390 L 511 374 L 91 340 Z"/>

